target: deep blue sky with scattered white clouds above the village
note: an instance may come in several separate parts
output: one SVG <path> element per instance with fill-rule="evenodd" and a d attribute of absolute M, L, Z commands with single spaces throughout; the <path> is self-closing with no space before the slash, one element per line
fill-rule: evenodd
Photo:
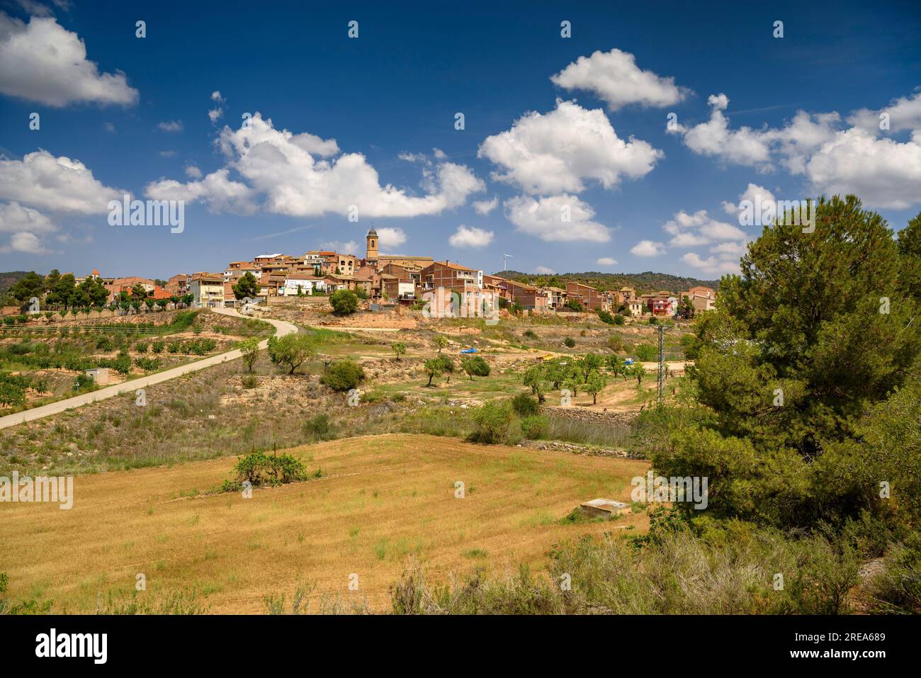
<path fill-rule="evenodd" d="M 921 211 L 916 2 L 313 5 L 0 4 L 0 270 L 360 256 L 373 222 L 486 271 L 713 278 L 760 230 L 743 194 Z M 183 232 L 110 226 L 124 191 Z"/>

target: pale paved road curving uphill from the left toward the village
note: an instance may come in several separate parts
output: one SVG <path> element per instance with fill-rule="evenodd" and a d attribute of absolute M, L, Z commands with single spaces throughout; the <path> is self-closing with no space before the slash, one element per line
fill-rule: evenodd
<path fill-rule="evenodd" d="M 230 315 L 237 318 L 243 317 L 233 309 L 214 310 L 217 313 L 221 313 L 222 315 Z M 264 318 L 262 320 L 274 325 L 275 336 L 284 336 L 285 334 L 297 332 L 297 326 L 290 322 L 276 321 L 269 318 Z M 265 348 L 268 343 L 268 339 L 263 339 L 259 347 Z M 76 395 L 73 398 L 60 400 L 57 403 L 41 405 L 41 407 L 34 407 L 30 410 L 26 410 L 25 412 L 18 412 L 15 415 L 2 416 L 0 417 L 0 428 L 12 427 L 16 426 L 17 424 L 24 424 L 27 421 L 41 419 L 45 416 L 57 415 L 64 412 L 65 410 L 71 410 L 75 407 L 81 407 L 89 403 L 96 403 L 100 400 L 106 400 L 107 398 L 114 398 L 116 395 L 134 392 L 137 389 L 144 389 L 148 386 L 162 383 L 163 381 L 176 379 L 177 377 L 181 377 L 184 374 L 189 374 L 190 372 L 197 372 L 199 369 L 210 368 L 215 365 L 219 365 L 220 363 L 227 362 L 227 360 L 236 360 L 239 357 L 239 350 L 227 351 L 227 353 L 221 353 L 216 356 L 206 357 L 202 360 L 196 360 L 195 362 L 189 363 L 188 365 L 181 365 L 178 368 L 157 372 L 157 374 L 152 374 L 149 377 L 141 377 L 139 379 L 128 380 L 121 384 L 115 384 L 113 386 L 107 386 L 105 388 L 99 389 L 99 391 L 84 393 L 83 395 Z"/>

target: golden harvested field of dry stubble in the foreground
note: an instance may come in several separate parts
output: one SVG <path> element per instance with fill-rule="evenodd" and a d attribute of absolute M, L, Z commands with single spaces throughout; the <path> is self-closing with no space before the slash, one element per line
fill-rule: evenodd
<path fill-rule="evenodd" d="M 647 529 L 645 513 L 565 523 L 587 499 L 630 500 L 646 462 L 385 435 L 292 450 L 322 477 L 277 488 L 200 494 L 233 475 L 235 458 L 81 475 L 70 510 L 0 504 L 0 571 L 13 599 L 41 596 L 52 612 L 91 613 L 110 594 L 129 599 L 195 588 L 212 613 L 262 613 L 263 596 L 298 581 L 317 594 L 367 598 L 415 555 L 433 579 L 520 562 L 542 567 L 553 544 L 614 527 Z M 455 497 L 455 483 L 465 496 Z M 624 532 L 615 530 L 614 532 Z M 351 574 L 358 590 L 348 589 Z"/>

